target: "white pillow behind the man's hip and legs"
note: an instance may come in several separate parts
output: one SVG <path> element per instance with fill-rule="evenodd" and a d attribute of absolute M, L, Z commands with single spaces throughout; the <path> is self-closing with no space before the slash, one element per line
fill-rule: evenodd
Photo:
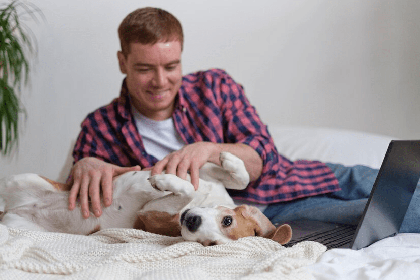
<path fill-rule="evenodd" d="M 268 125 L 277 150 L 290 160 L 306 159 L 380 168 L 389 136 L 345 129 Z"/>

